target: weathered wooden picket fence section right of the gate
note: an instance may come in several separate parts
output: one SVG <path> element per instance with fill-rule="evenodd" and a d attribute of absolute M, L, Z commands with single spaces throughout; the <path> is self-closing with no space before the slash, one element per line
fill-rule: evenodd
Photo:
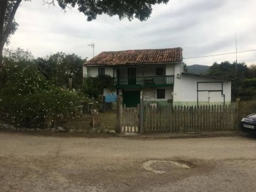
<path fill-rule="evenodd" d="M 144 107 L 144 133 L 238 129 L 237 105 Z"/>

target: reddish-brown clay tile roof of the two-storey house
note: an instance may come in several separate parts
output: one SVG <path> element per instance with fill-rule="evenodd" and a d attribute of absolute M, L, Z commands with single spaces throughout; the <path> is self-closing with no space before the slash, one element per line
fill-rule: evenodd
<path fill-rule="evenodd" d="M 84 65 L 139 65 L 182 62 L 182 48 L 105 51 Z"/>

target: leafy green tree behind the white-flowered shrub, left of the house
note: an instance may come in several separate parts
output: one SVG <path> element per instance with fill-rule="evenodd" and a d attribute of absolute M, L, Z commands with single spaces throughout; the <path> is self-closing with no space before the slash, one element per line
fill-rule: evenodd
<path fill-rule="evenodd" d="M 43 75 L 55 85 L 68 87 L 68 79 L 73 78 L 73 87 L 82 87 L 82 60 L 78 55 L 55 53 L 47 58 L 37 58 L 36 64 Z"/>

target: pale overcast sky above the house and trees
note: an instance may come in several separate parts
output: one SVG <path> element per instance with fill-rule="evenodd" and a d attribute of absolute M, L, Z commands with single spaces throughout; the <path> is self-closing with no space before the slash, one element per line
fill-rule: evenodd
<path fill-rule="evenodd" d="M 64 52 L 81 58 L 102 51 L 183 48 L 187 65 L 212 65 L 228 60 L 256 63 L 255 0 L 169 0 L 153 6 L 146 21 L 97 16 L 87 21 L 77 9 L 63 11 L 43 0 L 23 1 L 19 24 L 6 48 L 22 48 L 37 57 Z M 238 54 L 220 55 L 223 53 Z M 240 51 L 252 50 L 243 53 Z M 208 56 L 218 55 L 218 56 Z M 208 56 L 203 58 L 195 58 Z"/>

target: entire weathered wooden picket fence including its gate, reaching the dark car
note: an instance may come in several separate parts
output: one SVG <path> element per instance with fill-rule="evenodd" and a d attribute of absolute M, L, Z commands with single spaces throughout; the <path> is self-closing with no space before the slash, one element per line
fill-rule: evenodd
<path fill-rule="evenodd" d="M 139 106 L 117 108 L 117 129 L 141 132 Z M 141 133 L 215 132 L 238 130 L 240 119 L 256 112 L 256 101 L 231 105 L 144 107 Z"/>

